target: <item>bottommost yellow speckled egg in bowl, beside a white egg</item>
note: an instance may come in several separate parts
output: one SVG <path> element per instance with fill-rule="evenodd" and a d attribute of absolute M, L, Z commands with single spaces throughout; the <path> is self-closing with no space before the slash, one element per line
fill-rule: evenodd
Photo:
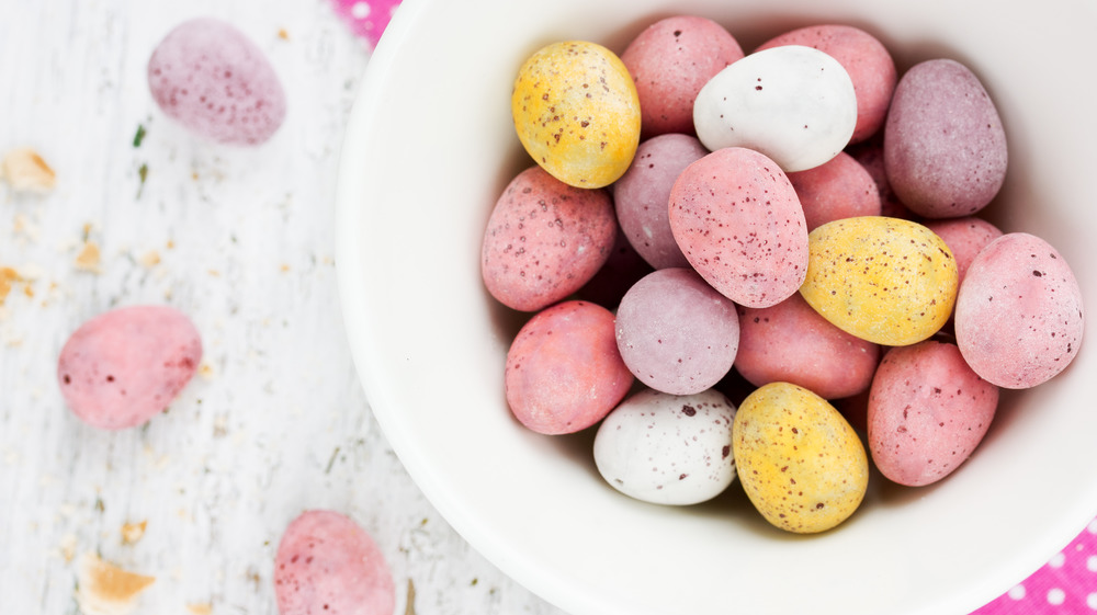
<path fill-rule="evenodd" d="M 803 387 L 770 383 L 755 390 L 735 414 L 732 437 L 747 497 L 781 529 L 824 532 L 864 499 L 864 446 L 833 406 Z"/>

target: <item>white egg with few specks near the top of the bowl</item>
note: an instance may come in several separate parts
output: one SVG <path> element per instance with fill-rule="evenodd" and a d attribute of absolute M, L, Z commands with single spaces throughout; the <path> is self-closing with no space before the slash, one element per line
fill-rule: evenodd
<path fill-rule="evenodd" d="M 755 52 L 701 88 L 697 136 L 710 150 L 746 147 L 785 172 L 818 167 L 849 144 L 857 95 L 838 60 L 802 45 Z"/>

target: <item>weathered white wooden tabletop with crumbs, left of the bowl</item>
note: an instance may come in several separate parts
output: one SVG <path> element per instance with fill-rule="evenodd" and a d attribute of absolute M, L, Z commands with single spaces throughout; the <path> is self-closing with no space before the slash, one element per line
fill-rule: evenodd
<path fill-rule="evenodd" d="M 262 147 L 202 141 L 148 93 L 152 48 L 199 15 L 242 30 L 289 91 Z M 357 380 L 333 192 L 369 57 L 325 0 L 0 0 L 0 156 L 30 147 L 56 172 L 45 195 L 0 182 L 0 271 L 20 276 L 0 307 L 0 613 L 79 613 L 86 553 L 156 577 L 136 613 L 274 613 L 278 542 L 313 508 L 374 536 L 397 613 L 561 613 L 446 525 Z M 133 304 L 188 314 L 205 355 L 168 412 L 98 431 L 66 409 L 57 355 Z"/>

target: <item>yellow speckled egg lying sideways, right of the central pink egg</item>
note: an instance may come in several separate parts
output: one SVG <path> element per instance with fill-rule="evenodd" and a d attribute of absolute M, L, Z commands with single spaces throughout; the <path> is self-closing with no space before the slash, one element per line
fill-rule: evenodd
<path fill-rule="evenodd" d="M 959 286 L 957 262 L 928 228 L 882 216 L 846 218 L 816 228 L 807 242 L 800 294 L 839 329 L 904 346 L 948 322 Z"/>

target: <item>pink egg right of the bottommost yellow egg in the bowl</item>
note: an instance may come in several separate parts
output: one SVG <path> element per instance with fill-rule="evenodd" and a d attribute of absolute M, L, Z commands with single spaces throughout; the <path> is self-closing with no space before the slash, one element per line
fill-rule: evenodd
<path fill-rule="evenodd" d="M 979 446 L 998 387 L 971 371 L 955 345 L 932 340 L 884 354 L 869 394 L 869 452 L 877 468 L 918 487 L 953 472 Z"/>

